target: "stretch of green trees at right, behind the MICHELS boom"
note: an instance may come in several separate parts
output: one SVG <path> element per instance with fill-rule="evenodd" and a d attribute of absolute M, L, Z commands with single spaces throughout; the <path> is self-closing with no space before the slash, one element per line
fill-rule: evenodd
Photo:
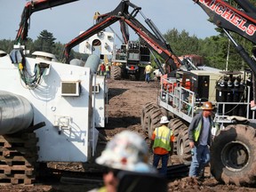
<path fill-rule="evenodd" d="M 190 36 L 185 30 L 179 32 L 176 28 L 167 31 L 164 35 L 167 42 L 171 44 L 172 51 L 180 56 L 197 54 L 204 58 L 204 64 L 212 68 L 225 69 L 228 62 L 228 70 L 243 70 L 248 68 L 244 60 L 236 52 L 235 46 L 229 41 L 219 28 L 215 28 L 219 35 L 209 36 L 204 39 L 195 35 Z M 232 32 L 230 32 L 232 33 Z M 238 44 L 250 54 L 253 44 L 244 37 L 232 33 Z"/>

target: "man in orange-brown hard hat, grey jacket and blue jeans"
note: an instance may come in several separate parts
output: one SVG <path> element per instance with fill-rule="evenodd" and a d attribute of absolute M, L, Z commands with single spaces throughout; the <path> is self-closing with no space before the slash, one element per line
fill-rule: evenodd
<path fill-rule="evenodd" d="M 212 102 L 204 102 L 203 111 L 194 116 L 188 127 L 192 162 L 189 177 L 204 179 L 204 167 L 210 162 L 209 146 L 212 141 Z"/>

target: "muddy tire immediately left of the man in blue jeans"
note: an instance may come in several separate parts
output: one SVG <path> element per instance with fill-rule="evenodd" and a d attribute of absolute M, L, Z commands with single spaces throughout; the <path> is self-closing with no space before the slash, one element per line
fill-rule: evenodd
<path fill-rule="evenodd" d="M 188 127 L 183 128 L 177 138 L 177 155 L 180 158 L 180 163 L 190 162 L 192 159 L 191 148 L 188 140 Z"/>

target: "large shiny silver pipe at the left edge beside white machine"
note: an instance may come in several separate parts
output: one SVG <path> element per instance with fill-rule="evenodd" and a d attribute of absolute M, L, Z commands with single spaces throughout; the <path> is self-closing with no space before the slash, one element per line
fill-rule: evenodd
<path fill-rule="evenodd" d="M 30 102 L 12 92 L 0 91 L 0 135 L 27 129 L 33 122 Z"/>

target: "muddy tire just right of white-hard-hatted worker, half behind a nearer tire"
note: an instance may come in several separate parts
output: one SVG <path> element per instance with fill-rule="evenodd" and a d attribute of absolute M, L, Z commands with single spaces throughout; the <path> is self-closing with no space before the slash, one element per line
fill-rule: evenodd
<path fill-rule="evenodd" d="M 179 118 L 172 118 L 168 124 L 168 127 L 172 129 L 175 141 L 173 142 L 173 154 L 178 154 L 177 152 L 177 140 L 181 130 L 188 128 Z"/>

